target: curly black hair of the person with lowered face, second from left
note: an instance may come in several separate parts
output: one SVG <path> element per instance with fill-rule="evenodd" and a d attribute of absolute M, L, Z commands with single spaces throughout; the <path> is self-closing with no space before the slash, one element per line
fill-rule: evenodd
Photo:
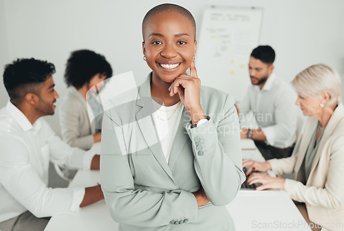
<path fill-rule="evenodd" d="M 65 83 L 80 89 L 96 74 L 112 76 L 111 65 L 105 56 L 91 50 L 76 50 L 69 56 L 65 69 Z"/>

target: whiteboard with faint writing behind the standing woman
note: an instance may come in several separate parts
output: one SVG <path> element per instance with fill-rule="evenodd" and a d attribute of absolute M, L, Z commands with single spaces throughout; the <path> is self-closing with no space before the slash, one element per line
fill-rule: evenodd
<path fill-rule="evenodd" d="M 197 39 L 195 65 L 202 85 L 225 91 L 239 101 L 251 84 L 248 60 L 257 47 L 262 8 L 209 7 Z"/>

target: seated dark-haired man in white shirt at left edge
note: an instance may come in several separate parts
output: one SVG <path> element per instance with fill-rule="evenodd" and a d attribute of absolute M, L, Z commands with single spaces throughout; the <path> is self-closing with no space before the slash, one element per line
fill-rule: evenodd
<path fill-rule="evenodd" d="M 100 186 L 48 188 L 49 162 L 99 169 L 99 155 L 72 148 L 41 118 L 54 114 L 57 92 L 46 61 L 18 59 L 6 65 L 10 100 L 0 109 L 0 230 L 44 230 L 49 217 L 103 199 Z M 45 218 L 42 218 L 45 217 Z"/>

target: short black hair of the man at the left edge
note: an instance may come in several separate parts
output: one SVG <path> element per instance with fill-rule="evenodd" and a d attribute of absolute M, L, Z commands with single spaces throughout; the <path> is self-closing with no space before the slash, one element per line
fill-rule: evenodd
<path fill-rule="evenodd" d="M 21 102 L 28 93 L 40 96 L 40 84 L 54 73 L 55 66 L 52 63 L 34 58 L 18 58 L 6 65 L 3 85 L 11 102 Z"/>

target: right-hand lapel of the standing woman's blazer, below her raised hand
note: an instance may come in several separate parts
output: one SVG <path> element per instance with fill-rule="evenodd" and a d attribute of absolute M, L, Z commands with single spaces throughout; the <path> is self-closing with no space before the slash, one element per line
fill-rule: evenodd
<path fill-rule="evenodd" d="M 186 132 L 185 126 L 191 120 L 189 113 L 186 109 L 183 109 L 182 118 L 180 118 L 180 123 L 178 130 L 175 133 L 175 139 L 173 140 L 173 146 L 171 149 L 170 159 L 169 159 L 169 168 L 173 169 L 175 162 L 177 162 L 178 156 L 182 152 L 186 142 L 190 140 L 188 133 Z"/>

